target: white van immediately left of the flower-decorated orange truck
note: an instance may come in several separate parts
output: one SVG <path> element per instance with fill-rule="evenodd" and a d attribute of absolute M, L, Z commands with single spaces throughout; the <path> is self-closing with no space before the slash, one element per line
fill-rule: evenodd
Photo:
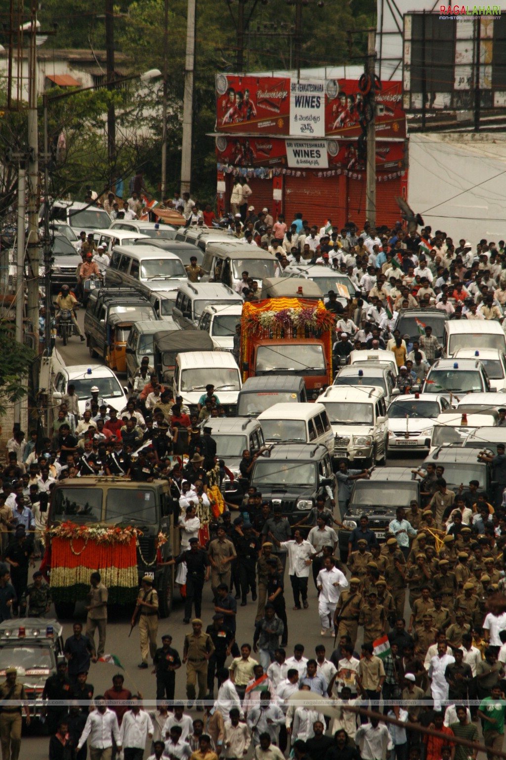
<path fill-rule="evenodd" d="M 196 411 L 206 385 L 214 385 L 218 403 L 225 414 L 234 416 L 242 382 L 239 367 L 228 351 L 188 351 L 178 353 L 174 368 L 174 398 L 182 396 L 190 411 Z"/>

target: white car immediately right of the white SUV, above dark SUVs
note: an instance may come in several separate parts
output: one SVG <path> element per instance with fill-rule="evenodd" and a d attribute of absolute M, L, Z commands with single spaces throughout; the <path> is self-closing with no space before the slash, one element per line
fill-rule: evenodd
<path fill-rule="evenodd" d="M 416 393 L 397 396 L 387 410 L 388 451 L 429 449 L 438 414 L 451 409 L 442 395 Z"/>

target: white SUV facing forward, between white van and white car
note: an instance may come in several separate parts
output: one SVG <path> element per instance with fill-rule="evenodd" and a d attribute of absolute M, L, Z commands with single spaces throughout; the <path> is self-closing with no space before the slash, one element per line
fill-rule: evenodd
<path fill-rule="evenodd" d="M 334 433 L 334 458 L 372 467 L 385 464 L 388 420 L 383 391 L 372 385 L 330 386 L 318 397 Z"/>

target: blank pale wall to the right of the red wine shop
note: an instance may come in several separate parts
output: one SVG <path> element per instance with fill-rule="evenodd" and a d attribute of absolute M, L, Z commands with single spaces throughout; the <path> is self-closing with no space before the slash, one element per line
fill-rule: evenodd
<path fill-rule="evenodd" d="M 506 135 L 411 135 L 408 178 L 410 207 L 455 245 L 506 239 Z"/>

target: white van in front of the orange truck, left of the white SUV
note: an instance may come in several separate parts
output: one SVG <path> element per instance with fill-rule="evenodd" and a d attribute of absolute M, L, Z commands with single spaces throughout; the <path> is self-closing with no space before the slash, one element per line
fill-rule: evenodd
<path fill-rule="evenodd" d="M 334 451 L 334 434 L 323 404 L 274 404 L 256 418 L 267 443 L 322 444 Z"/>

